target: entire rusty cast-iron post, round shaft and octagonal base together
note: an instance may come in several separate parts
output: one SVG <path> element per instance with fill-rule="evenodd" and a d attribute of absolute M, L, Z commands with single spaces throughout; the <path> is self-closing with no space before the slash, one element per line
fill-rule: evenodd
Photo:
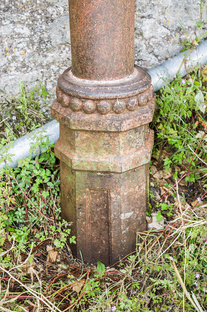
<path fill-rule="evenodd" d="M 75 256 L 112 265 L 146 229 L 155 109 L 150 76 L 134 67 L 134 0 L 69 0 L 72 68 L 58 79 L 62 217 Z"/>

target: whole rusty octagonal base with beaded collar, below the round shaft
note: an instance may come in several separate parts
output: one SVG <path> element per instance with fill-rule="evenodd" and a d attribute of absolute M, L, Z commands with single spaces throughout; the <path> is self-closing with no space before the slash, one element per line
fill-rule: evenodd
<path fill-rule="evenodd" d="M 146 229 L 155 95 L 150 76 L 139 67 L 135 74 L 100 82 L 69 69 L 58 79 L 51 111 L 60 121 L 62 217 L 86 263 L 116 263 Z"/>

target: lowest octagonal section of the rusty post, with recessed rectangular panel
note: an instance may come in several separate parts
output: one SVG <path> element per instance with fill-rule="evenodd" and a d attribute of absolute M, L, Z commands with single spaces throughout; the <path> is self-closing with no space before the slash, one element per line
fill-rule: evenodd
<path fill-rule="evenodd" d="M 136 248 L 146 230 L 148 164 L 123 173 L 72 170 L 61 161 L 62 217 L 72 223 L 73 254 L 112 265 Z"/>

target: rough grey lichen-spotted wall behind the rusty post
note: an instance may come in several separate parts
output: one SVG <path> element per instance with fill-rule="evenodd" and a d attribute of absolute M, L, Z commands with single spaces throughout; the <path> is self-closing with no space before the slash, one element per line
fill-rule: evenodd
<path fill-rule="evenodd" d="M 195 35 L 199 0 L 135 1 L 137 64 L 151 68 L 178 54 L 186 39 L 179 22 Z M 20 81 L 32 89 L 41 80 L 54 98 L 71 65 L 67 0 L 2 0 L 0 19 L 0 90 L 17 94 Z"/>

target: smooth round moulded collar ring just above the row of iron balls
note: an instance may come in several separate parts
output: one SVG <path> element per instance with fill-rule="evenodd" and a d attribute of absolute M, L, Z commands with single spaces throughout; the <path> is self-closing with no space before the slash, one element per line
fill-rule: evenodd
<path fill-rule="evenodd" d="M 116 80 L 85 80 L 75 77 L 71 67 L 58 78 L 57 96 L 90 99 L 113 99 L 136 96 L 149 89 L 150 75 L 140 66 L 135 66 L 130 76 Z M 149 89 L 152 93 L 153 88 Z"/>

